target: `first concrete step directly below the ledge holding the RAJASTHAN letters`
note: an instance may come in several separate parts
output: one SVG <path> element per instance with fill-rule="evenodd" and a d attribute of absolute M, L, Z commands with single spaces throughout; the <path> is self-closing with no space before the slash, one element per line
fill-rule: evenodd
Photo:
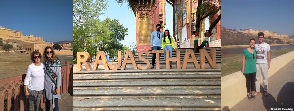
<path fill-rule="evenodd" d="M 134 75 L 99 75 L 92 74 L 85 76 L 84 74 L 74 74 L 73 80 L 120 80 L 120 79 L 189 79 L 189 78 L 221 78 L 221 72 L 213 72 L 210 74 L 195 74 L 193 72 L 188 72 L 189 74 L 134 74 Z M 187 73 L 187 72 L 186 72 Z"/>

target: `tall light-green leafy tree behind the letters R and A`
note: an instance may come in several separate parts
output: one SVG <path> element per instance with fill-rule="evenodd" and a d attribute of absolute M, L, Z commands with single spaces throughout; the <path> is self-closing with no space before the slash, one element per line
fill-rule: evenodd
<path fill-rule="evenodd" d="M 106 24 L 99 20 L 107 6 L 106 0 L 73 0 L 73 59 L 77 51 L 94 55 L 98 41 L 110 35 L 110 31 L 105 28 Z"/>

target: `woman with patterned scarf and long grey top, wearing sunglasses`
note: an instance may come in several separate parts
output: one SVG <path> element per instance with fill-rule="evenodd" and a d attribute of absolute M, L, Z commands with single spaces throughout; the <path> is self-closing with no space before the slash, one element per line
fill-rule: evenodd
<path fill-rule="evenodd" d="M 45 107 L 50 111 L 50 101 L 52 100 L 53 111 L 59 111 L 58 99 L 60 98 L 61 85 L 61 64 L 57 59 L 52 47 L 48 46 L 44 50 L 44 89 L 45 89 Z"/>

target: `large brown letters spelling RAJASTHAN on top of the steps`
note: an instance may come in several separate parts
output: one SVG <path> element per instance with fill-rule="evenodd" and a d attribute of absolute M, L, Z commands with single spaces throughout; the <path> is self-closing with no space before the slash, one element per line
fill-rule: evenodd
<path fill-rule="evenodd" d="M 153 50 L 152 53 L 156 54 L 156 69 L 160 69 L 160 53 L 163 53 L 163 50 Z M 209 64 L 210 68 L 217 68 L 216 67 L 216 49 L 212 48 L 210 49 L 210 56 L 207 53 L 206 49 L 200 49 L 200 67 L 199 64 L 197 62 L 197 59 L 194 55 L 194 52 L 192 49 L 187 49 L 185 52 L 185 56 L 184 56 L 184 61 L 183 61 L 183 65 L 182 67 L 180 66 L 181 64 L 181 58 L 180 58 L 180 50 L 176 50 L 176 57 L 170 57 L 169 56 L 169 50 L 166 50 L 166 69 L 170 69 L 169 67 L 169 62 L 170 61 L 176 61 L 176 67 L 177 69 L 186 69 L 187 68 L 187 64 L 188 62 L 193 62 L 194 68 L 201 68 L 201 69 L 205 69 L 205 60 L 207 61 L 207 63 Z M 104 51 L 98 51 L 97 52 L 97 56 L 96 56 L 96 60 L 94 63 L 93 68 L 91 67 L 91 65 L 89 64 L 90 61 L 90 55 L 88 52 L 77 52 L 77 70 L 83 70 L 82 69 L 82 64 L 84 64 L 84 66 L 86 67 L 86 70 L 91 71 L 91 70 L 97 70 L 98 65 L 99 64 L 103 64 L 105 70 L 118 70 L 121 67 L 121 70 L 125 70 L 127 63 L 132 63 L 133 67 L 135 70 L 138 69 L 138 67 L 140 69 L 147 69 L 150 66 L 150 62 L 143 58 L 142 55 L 146 54 L 147 56 L 149 56 L 149 52 L 148 51 L 141 51 L 139 52 L 139 59 L 146 62 L 146 66 L 142 66 L 141 64 L 136 64 L 134 55 L 132 54 L 132 51 L 127 51 L 125 58 L 122 62 L 122 51 L 118 51 L 118 64 L 116 66 L 114 66 L 114 64 L 108 64 L 107 60 L 106 60 L 106 56 Z M 191 56 L 191 58 L 189 58 L 189 56 Z M 128 59 L 130 57 L 130 59 Z"/>

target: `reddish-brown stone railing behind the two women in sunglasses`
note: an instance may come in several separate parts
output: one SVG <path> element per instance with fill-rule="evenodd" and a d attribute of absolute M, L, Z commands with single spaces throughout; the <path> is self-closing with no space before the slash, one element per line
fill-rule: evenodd
<path fill-rule="evenodd" d="M 25 75 L 19 75 L 0 79 L 0 111 L 28 111 L 28 99 L 24 96 L 24 79 Z M 61 86 L 60 93 L 72 92 L 72 65 L 65 62 L 65 65 L 61 68 Z M 13 99 L 11 99 L 13 97 Z M 14 101 L 13 103 L 11 103 Z M 6 104 L 7 102 L 7 104 Z M 13 105 L 13 107 L 11 107 Z M 44 94 L 41 97 L 41 108 L 45 107 Z"/>

